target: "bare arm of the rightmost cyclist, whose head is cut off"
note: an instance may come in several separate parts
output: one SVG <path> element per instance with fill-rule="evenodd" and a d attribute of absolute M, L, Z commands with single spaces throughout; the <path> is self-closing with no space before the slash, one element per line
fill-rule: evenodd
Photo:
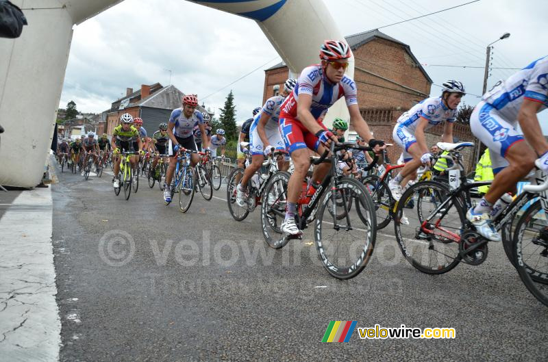
<path fill-rule="evenodd" d="M 543 103 L 524 99 L 518 113 L 518 120 L 523 135 L 529 144 L 533 147 L 538 156 L 544 155 L 548 151 L 548 142 L 543 136 L 543 131 L 540 129 L 538 122 L 538 109 Z"/>

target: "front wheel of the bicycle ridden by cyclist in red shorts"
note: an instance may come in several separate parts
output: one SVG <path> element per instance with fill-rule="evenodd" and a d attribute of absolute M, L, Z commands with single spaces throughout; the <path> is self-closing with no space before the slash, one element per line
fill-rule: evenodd
<path fill-rule="evenodd" d="M 340 205 L 338 194 L 342 198 Z M 364 220 L 348 209 L 348 198 L 360 204 Z M 345 214 L 341 220 L 333 217 L 340 214 L 339 207 Z M 377 218 L 371 196 L 360 181 L 341 177 L 336 181 L 336 190 L 327 188 L 318 208 L 314 241 L 323 267 L 337 279 L 351 279 L 365 268 L 375 247 Z"/>

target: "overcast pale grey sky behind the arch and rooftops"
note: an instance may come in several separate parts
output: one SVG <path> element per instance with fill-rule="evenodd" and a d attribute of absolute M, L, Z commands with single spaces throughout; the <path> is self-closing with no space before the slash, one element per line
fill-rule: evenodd
<path fill-rule="evenodd" d="M 316 1 L 325 1 L 345 36 L 467 2 Z M 522 68 L 548 54 L 548 1 L 524 3 L 481 0 L 380 31 L 409 44 L 434 83 L 462 81 L 469 92 L 464 101 L 475 105 L 479 99 L 473 94 L 482 93 L 487 44 L 507 31 L 512 34 L 494 44 L 494 67 Z M 184 0 L 125 0 L 75 27 L 60 107 L 73 100 L 80 112 L 102 112 L 125 95 L 125 88 L 169 84 L 171 70 L 173 85 L 182 92 L 197 93 L 200 103 L 216 114 L 232 89 L 241 121 L 261 105 L 264 69 L 279 61 L 255 21 Z M 515 71 L 493 69 L 488 88 Z M 432 86 L 432 95 L 439 92 L 439 87 Z M 540 121 L 548 133 L 547 112 Z"/>

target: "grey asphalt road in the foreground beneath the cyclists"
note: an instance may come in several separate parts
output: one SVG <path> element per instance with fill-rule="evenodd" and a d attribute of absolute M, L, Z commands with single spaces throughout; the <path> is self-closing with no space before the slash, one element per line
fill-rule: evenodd
<path fill-rule="evenodd" d="M 308 231 L 273 250 L 258 210 L 242 222 L 223 189 L 186 214 L 141 183 L 129 201 L 111 176 L 60 174 L 53 245 L 61 361 L 546 361 L 548 309 L 522 285 L 500 244 L 481 266 L 418 272 L 393 225 L 369 266 L 333 279 Z M 123 193 L 123 192 L 122 192 Z M 321 343 L 331 320 L 358 327 L 452 327 L 455 339 Z"/>

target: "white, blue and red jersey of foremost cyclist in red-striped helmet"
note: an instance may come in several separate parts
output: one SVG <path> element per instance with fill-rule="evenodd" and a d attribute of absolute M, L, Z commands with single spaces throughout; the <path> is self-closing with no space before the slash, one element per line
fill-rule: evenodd
<path fill-rule="evenodd" d="M 282 104 L 282 116 L 280 118 L 284 118 L 284 114 L 287 114 L 292 118 L 299 119 L 297 118 L 299 94 L 310 94 L 312 96 L 310 113 L 316 119 L 325 114 L 327 109 L 343 96 L 348 106 L 358 104 L 356 83 L 347 75 L 343 76 L 340 83 L 331 83 L 323 74 L 321 64 L 304 68 L 297 81 L 297 86 Z"/>

